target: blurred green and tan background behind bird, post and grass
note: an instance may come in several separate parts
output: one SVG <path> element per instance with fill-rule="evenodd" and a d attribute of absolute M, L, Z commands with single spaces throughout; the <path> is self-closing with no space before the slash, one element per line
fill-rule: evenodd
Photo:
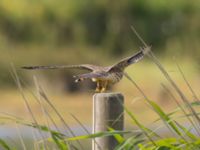
<path fill-rule="evenodd" d="M 26 116 L 11 75 L 10 64 L 13 63 L 19 77 L 29 85 L 24 88 L 26 94 L 29 87 L 35 92 L 35 75 L 62 114 L 70 112 L 83 124 L 91 126 L 91 99 L 95 88 L 91 82 L 74 83 L 72 76 L 79 71 L 24 71 L 20 67 L 79 63 L 110 65 L 143 46 L 132 32 L 132 25 L 152 45 L 167 71 L 192 99 L 173 57 L 194 90 L 200 91 L 200 1 L 0 0 L 1 111 Z M 127 72 L 162 108 L 168 111 L 175 107 L 160 86 L 161 82 L 169 84 L 151 61 L 145 58 L 130 66 Z M 136 101 L 142 99 L 141 93 L 127 79 L 114 86 L 113 91 L 125 95 L 126 106 L 142 122 L 156 118 L 144 101 Z M 29 94 L 28 99 L 41 119 L 34 98 Z M 66 120 L 70 125 L 77 124 L 69 115 Z"/>

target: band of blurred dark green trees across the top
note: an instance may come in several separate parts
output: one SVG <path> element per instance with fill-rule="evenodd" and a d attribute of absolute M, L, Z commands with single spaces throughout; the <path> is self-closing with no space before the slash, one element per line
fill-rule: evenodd
<path fill-rule="evenodd" d="M 172 44 L 181 51 L 178 45 L 199 39 L 199 8 L 194 0 L 1 0 L 0 37 L 21 44 L 94 45 L 119 55 L 136 47 L 134 25 L 154 47 Z"/>

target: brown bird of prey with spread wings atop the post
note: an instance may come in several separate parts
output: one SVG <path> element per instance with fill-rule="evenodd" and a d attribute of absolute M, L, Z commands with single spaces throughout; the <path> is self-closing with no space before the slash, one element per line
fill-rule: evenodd
<path fill-rule="evenodd" d="M 136 54 L 129 56 L 114 65 L 102 67 L 92 64 L 80 64 L 80 65 L 55 65 L 55 66 L 24 66 L 23 69 L 64 69 L 64 68 L 77 68 L 90 71 L 86 74 L 80 74 L 73 76 L 75 82 L 80 82 L 86 79 L 91 79 L 96 82 L 96 92 L 105 92 L 108 85 L 113 85 L 119 82 L 124 73 L 124 69 L 131 64 L 134 64 L 141 60 L 151 50 L 151 47 L 141 48 Z"/>

